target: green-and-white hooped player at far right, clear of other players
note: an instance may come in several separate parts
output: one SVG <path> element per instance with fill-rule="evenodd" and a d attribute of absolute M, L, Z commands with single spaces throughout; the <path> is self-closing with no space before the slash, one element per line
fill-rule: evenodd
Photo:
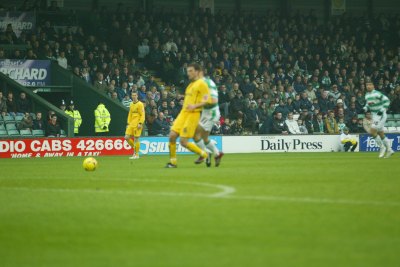
<path fill-rule="evenodd" d="M 375 90 L 374 84 L 371 81 L 367 81 L 365 86 L 367 93 L 365 94 L 366 104 L 364 111 L 372 113 L 370 134 L 380 146 L 379 157 L 389 158 L 394 152 L 390 146 L 389 139 L 385 136 L 383 128 L 387 119 L 386 110 L 389 108 L 390 100 L 387 96 Z"/>

